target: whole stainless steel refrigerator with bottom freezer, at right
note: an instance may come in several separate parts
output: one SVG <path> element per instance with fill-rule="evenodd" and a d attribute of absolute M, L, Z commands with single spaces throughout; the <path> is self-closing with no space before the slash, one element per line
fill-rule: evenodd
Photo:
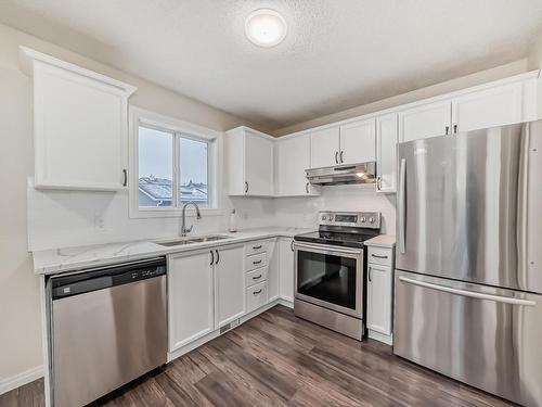
<path fill-rule="evenodd" d="M 542 120 L 398 145 L 396 355 L 542 406 Z"/>

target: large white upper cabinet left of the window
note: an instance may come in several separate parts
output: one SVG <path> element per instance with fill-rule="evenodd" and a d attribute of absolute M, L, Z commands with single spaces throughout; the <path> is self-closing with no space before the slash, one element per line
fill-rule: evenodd
<path fill-rule="evenodd" d="M 34 78 L 36 188 L 127 187 L 128 97 L 136 88 L 21 47 Z"/>

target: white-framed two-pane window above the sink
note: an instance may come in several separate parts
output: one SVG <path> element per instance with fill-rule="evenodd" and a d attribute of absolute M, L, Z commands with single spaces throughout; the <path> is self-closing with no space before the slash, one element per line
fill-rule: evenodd
<path fill-rule="evenodd" d="M 131 185 L 138 187 L 137 192 L 130 189 L 131 215 L 177 216 L 191 201 L 202 209 L 216 209 L 215 135 L 163 122 L 134 118 L 131 170 L 137 178 Z"/>

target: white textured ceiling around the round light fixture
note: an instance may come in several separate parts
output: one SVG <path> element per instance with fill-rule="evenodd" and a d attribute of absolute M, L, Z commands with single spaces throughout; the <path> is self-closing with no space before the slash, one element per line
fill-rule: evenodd
<path fill-rule="evenodd" d="M 244 18 L 288 23 L 261 49 Z M 0 0 L 0 22 L 270 130 L 526 55 L 541 0 Z"/>

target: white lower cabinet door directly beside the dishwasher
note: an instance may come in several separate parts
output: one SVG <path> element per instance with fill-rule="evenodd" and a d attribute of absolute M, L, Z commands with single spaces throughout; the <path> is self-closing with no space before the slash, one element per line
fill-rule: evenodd
<path fill-rule="evenodd" d="M 168 257 L 169 352 L 215 329 L 210 251 Z"/>

